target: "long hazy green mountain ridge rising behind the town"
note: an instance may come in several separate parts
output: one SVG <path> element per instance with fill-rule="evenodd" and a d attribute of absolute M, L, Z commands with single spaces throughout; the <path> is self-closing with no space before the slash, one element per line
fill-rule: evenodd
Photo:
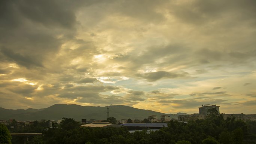
<path fill-rule="evenodd" d="M 107 117 L 107 107 L 93 107 L 93 106 L 81 106 L 75 104 L 55 104 L 48 108 L 27 110 L 8 110 L 0 108 L 0 119 L 15 119 L 15 120 L 59 120 L 61 117 L 74 118 L 75 120 L 81 119 L 96 119 L 104 120 Z M 110 105 L 109 116 L 116 119 L 144 119 L 148 116 L 156 115 L 160 119 L 161 115 L 165 113 L 159 113 L 152 110 L 142 110 L 138 108 L 128 107 L 125 105 Z M 173 119 L 177 119 L 177 114 L 167 114 Z"/>

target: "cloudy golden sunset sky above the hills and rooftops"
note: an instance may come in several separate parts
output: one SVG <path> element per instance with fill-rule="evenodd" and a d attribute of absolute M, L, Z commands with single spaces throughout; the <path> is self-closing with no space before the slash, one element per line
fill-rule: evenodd
<path fill-rule="evenodd" d="M 0 107 L 256 114 L 255 0 L 1 0 Z"/>

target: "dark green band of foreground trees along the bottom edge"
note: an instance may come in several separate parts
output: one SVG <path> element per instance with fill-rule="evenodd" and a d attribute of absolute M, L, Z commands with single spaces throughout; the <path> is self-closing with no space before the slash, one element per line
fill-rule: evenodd
<path fill-rule="evenodd" d="M 27 144 L 256 144 L 256 122 L 224 120 L 221 115 L 187 124 L 170 121 L 168 127 L 158 131 L 134 133 L 126 127 L 79 127 L 74 119 L 63 119 L 60 125 L 49 129 L 35 122 L 27 130 L 34 128 L 33 132 L 41 131 L 43 135 L 31 138 Z M 13 144 L 18 144 L 14 139 Z"/>

